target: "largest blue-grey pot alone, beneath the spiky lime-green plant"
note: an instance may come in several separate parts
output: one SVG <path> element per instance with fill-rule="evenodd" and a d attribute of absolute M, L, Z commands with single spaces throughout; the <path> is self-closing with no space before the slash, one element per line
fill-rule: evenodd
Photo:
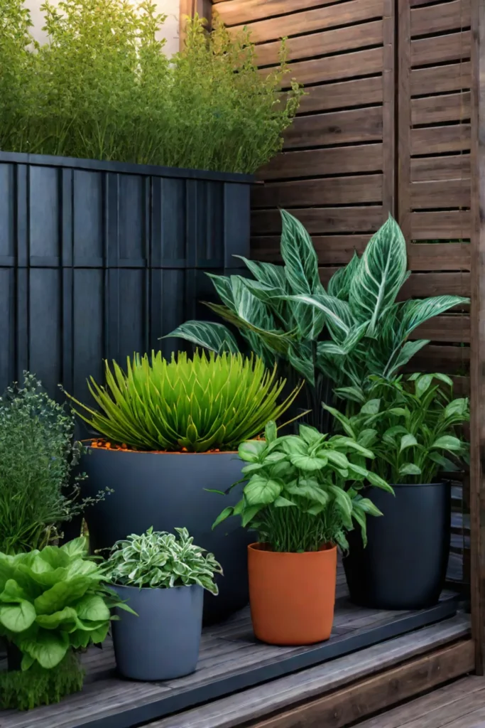
<path fill-rule="evenodd" d="M 215 554 L 224 576 L 217 577 L 220 593 L 204 597 L 204 622 L 216 622 L 246 606 L 249 600 L 247 545 L 253 540 L 239 518 L 212 531 L 217 515 L 241 498 L 241 486 L 225 491 L 241 478 L 237 453 L 139 453 L 88 448 L 81 469 L 88 478 L 83 496 L 95 497 L 104 488 L 113 493 L 86 509 L 91 550 L 106 549 L 129 534 L 188 529 L 196 545 Z"/>

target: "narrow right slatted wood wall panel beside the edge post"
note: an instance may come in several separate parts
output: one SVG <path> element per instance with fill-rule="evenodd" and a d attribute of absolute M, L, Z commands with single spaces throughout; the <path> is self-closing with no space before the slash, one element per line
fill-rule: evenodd
<path fill-rule="evenodd" d="M 470 0 L 398 0 L 396 74 L 397 215 L 413 271 L 428 251 L 409 295 L 470 296 Z M 468 373 L 467 309 L 420 333 L 432 344 L 415 367 Z"/>

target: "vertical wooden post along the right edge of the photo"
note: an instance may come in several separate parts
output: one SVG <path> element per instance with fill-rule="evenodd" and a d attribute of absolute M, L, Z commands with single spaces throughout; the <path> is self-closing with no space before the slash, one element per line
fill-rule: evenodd
<path fill-rule="evenodd" d="M 476 668 L 485 653 L 485 0 L 472 0 L 470 561 Z"/>

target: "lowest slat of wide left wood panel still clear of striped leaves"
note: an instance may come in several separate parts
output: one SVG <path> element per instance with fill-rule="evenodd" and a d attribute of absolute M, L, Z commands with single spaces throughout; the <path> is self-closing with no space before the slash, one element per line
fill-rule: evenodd
<path fill-rule="evenodd" d="M 277 182 L 252 188 L 252 207 L 356 205 L 382 202 L 382 175 Z"/>

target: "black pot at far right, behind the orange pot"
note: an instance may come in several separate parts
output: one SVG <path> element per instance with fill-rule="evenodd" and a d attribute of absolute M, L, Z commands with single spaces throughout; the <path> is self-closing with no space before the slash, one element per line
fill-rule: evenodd
<path fill-rule="evenodd" d="M 360 529 L 348 534 L 344 558 L 350 599 L 373 609 L 425 609 L 444 588 L 451 537 L 450 483 L 395 485 L 365 495 L 382 511 L 367 518 L 368 544 Z"/>

